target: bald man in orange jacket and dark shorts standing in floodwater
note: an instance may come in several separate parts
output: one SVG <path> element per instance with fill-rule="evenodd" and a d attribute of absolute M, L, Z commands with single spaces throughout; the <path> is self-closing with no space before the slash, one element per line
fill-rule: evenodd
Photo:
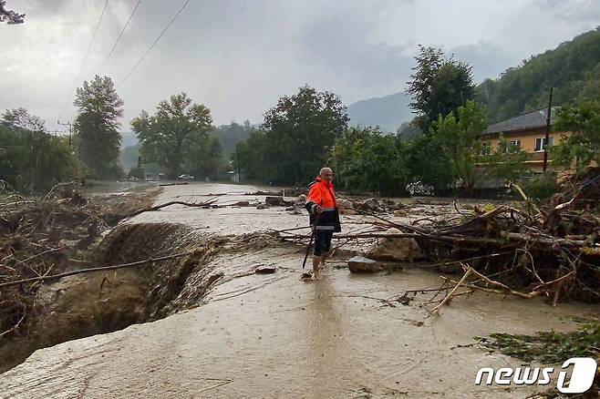
<path fill-rule="evenodd" d="M 337 211 L 336 192 L 331 182 L 333 178 L 333 171 L 330 168 L 323 168 L 315 181 L 308 186 L 305 207 L 310 215 L 310 225 L 315 234 L 313 278 L 317 277 L 319 266 L 325 264 L 331 251 L 331 238 L 334 232 L 342 230 Z"/>

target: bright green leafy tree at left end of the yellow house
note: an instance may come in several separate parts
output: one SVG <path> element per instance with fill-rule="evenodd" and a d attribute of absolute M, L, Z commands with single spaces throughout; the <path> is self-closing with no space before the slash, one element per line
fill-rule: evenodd
<path fill-rule="evenodd" d="M 430 128 L 432 141 L 440 145 L 451 176 L 464 194 L 471 195 L 477 180 L 478 156 L 481 154 L 481 134 L 487 128 L 485 110 L 470 100 L 458 107 L 458 118 L 449 113 Z"/>

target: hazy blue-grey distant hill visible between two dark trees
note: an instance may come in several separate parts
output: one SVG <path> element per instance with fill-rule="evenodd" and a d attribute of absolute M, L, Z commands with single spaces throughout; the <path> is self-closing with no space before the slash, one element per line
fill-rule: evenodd
<path fill-rule="evenodd" d="M 410 112 L 410 101 L 404 92 L 357 101 L 347 107 L 350 125 L 378 125 L 385 132 L 395 132 L 402 123 L 414 117 Z"/>

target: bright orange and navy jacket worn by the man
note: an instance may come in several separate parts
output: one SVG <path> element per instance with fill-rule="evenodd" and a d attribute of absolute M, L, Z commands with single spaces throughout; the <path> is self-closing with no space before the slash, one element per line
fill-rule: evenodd
<path fill-rule="evenodd" d="M 316 206 L 323 208 L 317 217 Z M 339 212 L 337 211 L 336 192 L 333 183 L 328 183 L 317 177 L 308 186 L 306 210 L 310 214 L 310 225 L 316 225 L 316 230 L 340 232 Z"/>

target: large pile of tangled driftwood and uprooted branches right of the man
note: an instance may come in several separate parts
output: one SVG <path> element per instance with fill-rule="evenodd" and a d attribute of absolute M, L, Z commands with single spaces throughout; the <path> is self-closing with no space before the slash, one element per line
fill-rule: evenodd
<path fill-rule="evenodd" d="M 360 239 L 416 240 L 426 261 L 432 263 L 428 266 L 446 274 L 441 277 L 441 289 L 435 290 L 446 293 L 440 305 L 473 291 L 543 296 L 553 305 L 568 299 L 600 302 L 600 175 L 589 174 L 541 207 L 518 186 L 512 189 L 520 200 L 469 210 L 455 206 L 456 212 L 445 218 L 412 223 L 355 208 L 376 220 L 371 222 L 375 229 L 338 234 L 334 239 L 341 245 Z M 391 227 L 399 232 L 381 231 Z M 278 232 L 296 242 L 306 237 L 293 230 Z M 449 272 L 463 275 L 455 279 Z M 419 292 L 410 294 L 414 297 Z"/>

